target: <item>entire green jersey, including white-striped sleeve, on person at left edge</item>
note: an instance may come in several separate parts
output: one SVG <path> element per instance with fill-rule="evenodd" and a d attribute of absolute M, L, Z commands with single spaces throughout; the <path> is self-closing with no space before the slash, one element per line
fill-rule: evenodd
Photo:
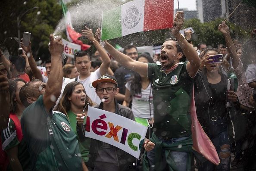
<path fill-rule="evenodd" d="M 22 166 L 23 171 L 29 171 L 30 157 L 28 154 L 28 148 L 25 144 L 24 138 L 19 142 L 16 134 L 16 127 L 12 119 L 9 119 L 8 127 L 1 132 L 2 147 L 6 151 L 15 146 L 18 146 L 18 159 Z M 10 165 L 7 168 L 11 171 Z"/>

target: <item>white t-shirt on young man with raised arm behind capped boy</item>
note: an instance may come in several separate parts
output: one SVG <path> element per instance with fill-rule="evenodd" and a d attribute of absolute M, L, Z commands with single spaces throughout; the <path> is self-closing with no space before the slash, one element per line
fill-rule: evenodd
<path fill-rule="evenodd" d="M 78 79 L 77 81 L 79 83 L 82 83 L 85 89 L 85 92 L 87 94 L 88 97 L 91 98 L 91 100 L 97 104 L 100 104 L 101 100 L 100 98 L 97 96 L 96 92 L 95 92 L 95 88 L 92 86 L 92 82 L 97 80 L 98 78 L 100 78 L 100 68 L 98 68 L 96 71 L 91 72 L 91 75 L 87 78 L 85 78 L 84 80 L 80 80 L 80 75 L 78 75 Z M 75 81 L 75 78 L 72 79 L 72 81 Z"/>

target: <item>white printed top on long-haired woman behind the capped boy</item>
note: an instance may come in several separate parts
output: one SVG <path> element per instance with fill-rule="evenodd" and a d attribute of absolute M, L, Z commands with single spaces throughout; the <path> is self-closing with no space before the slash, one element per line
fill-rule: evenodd
<path fill-rule="evenodd" d="M 127 82 L 125 87 L 131 91 L 131 82 Z M 141 89 L 141 94 L 135 94 L 132 96 L 131 110 L 135 117 L 138 118 L 153 118 L 153 94 L 151 83 L 144 90 Z"/>

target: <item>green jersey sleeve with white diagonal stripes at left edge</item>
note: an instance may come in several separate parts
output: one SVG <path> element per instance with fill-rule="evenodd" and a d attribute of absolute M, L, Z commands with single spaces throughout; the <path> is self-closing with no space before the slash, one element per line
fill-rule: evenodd
<path fill-rule="evenodd" d="M 4 151 L 17 146 L 20 142 L 17 138 L 16 127 L 12 119 L 9 119 L 7 128 L 1 131 L 2 148 Z"/>

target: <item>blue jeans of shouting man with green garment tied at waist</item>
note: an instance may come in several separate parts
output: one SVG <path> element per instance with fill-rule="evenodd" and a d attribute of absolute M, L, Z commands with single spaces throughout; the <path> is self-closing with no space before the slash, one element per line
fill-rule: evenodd
<path fill-rule="evenodd" d="M 159 140 L 162 140 L 162 142 L 167 144 L 176 143 L 178 141 L 186 140 L 188 137 L 181 137 L 181 138 L 172 138 L 170 140 L 164 140 L 160 137 L 158 137 Z M 179 171 L 186 171 L 187 170 L 187 152 L 180 152 L 180 151 L 171 151 L 170 155 L 172 156 L 172 159 L 174 160 L 177 168 L 179 168 Z M 155 149 L 151 150 L 150 152 L 147 152 L 147 158 L 150 165 L 150 171 L 154 171 L 155 168 Z M 165 160 L 165 149 L 162 148 L 162 159 L 160 163 L 160 168 L 163 168 L 162 171 L 168 171 L 168 165 Z"/>

